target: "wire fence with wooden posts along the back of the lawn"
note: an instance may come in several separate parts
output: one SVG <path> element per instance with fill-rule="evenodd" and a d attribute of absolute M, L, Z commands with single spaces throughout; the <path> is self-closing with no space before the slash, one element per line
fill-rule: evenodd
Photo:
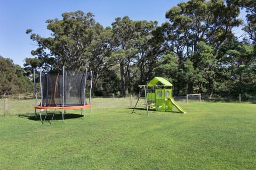
<path fill-rule="evenodd" d="M 175 101 L 187 102 L 187 96 L 174 96 Z M 116 96 L 95 96 L 91 99 L 93 109 L 114 109 L 133 108 L 138 100 L 137 95 L 129 95 L 125 98 Z M 145 98 L 141 97 L 139 105 L 143 105 Z M 189 96 L 189 102 L 199 102 L 198 96 Z M 256 97 L 246 97 L 243 95 L 227 95 L 209 99 L 201 96 L 202 102 L 249 102 L 256 103 Z M 40 101 L 38 101 L 37 105 Z M 19 116 L 35 114 L 35 98 L 31 95 L 0 96 L 0 116 Z"/>

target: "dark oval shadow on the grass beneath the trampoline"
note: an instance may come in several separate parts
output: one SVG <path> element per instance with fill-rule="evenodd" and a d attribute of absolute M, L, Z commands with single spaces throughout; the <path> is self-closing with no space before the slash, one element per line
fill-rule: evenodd
<path fill-rule="evenodd" d="M 53 116 L 52 113 L 48 113 L 46 118 L 45 118 L 45 114 L 42 114 L 42 120 L 44 120 L 44 118 L 45 118 L 45 121 L 50 121 L 50 120 L 52 120 L 52 116 Z M 83 116 L 84 115 L 81 115 L 81 114 L 65 113 L 64 114 L 64 120 L 72 119 L 72 118 L 79 118 L 79 117 L 83 117 Z M 31 116 L 31 115 L 19 115 L 19 117 L 28 118 L 28 120 L 32 120 L 32 121 L 41 121 L 39 114 L 37 114 L 36 116 L 35 115 L 33 115 L 33 116 Z M 55 113 L 55 115 L 53 117 L 53 120 L 62 120 L 62 114 Z"/>

